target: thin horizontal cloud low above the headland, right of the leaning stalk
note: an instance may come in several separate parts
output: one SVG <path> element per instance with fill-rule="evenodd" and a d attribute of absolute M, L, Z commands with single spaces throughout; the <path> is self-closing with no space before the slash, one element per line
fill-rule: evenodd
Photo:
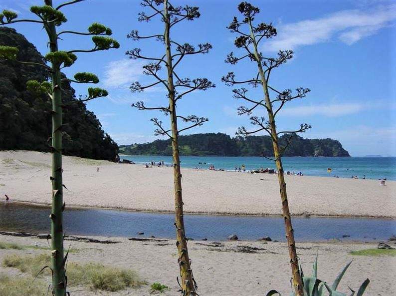
<path fill-rule="evenodd" d="M 344 104 L 326 104 L 313 106 L 298 106 L 288 107 L 282 110 L 279 114 L 288 116 L 309 116 L 309 115 L 324 115 L 328 117 L 337 117 L 348 114 L 358 113 L 365 109 L 365 106 L 358 103 L 344 103 Z"/>

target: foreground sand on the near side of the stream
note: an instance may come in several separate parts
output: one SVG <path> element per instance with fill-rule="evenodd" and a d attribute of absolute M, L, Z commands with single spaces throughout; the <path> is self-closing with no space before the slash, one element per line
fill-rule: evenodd
<path fill-rule="evenodd" d="M 97 238 L 109 240 L 109 238 Z M 133 269 L 149 285 L 160 282 L 170 287 L 164 296 L 179 295 L 176 276 L 179 273 L 175 241 L 135 242 L 125 238 L 112 238 L 118 244 L 104 245 L 65 241 L 79 250 L 69 254 L 69 261 L 100 262 L 105 265 Z M 21 245 L 46 247 L 46 240 L 0 236 L 0 241 L 15 242 Z M 204 245 L 200 245 L 204 244 Z M 209 245 L 209 246 L 208 246 Z M 198 293 L 202 296 L 264 296 L 265 292 L 277 289 L 282 295 L 290 294 L 291 271 L 288 264 L 288 251 L 284 243 L 225 242 L 221 247 L 211 247 L 209 242 L 189 242 L 192 268 L 198 283 Z M 241 246 L 256 247 L 257 253 L 238 252 Z M 319 253 L 318 278 L 333 283 L 344 266 L 354 260 L 343 280 L 339 291 L 350 295 L 348 286 L 357 290 L 366 278 L 371 283 L 366 296 L 396 296 L 396 257 L 352 256 L 351 251 L 375 248 L 374 244 L 358 243 L 304 243 L 298 244 L 297 253 L 303 271 L 310 275 L 316 252 Z M 10 254 L 30 254 L 45 251 L 0 250 L 0 261 Z M 46 251 L 49 252 L 49 251 Z M 0 266 L 0 273 L 20 275 L 15 269 Z M 128 289 L 118 293 L 93 292 L 87 287 L 70 287 L 73 296 L 150 296 L 150 287 Z"/>

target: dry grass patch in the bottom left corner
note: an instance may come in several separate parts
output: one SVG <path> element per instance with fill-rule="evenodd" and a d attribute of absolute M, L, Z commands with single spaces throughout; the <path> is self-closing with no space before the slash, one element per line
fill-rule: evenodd
<path fill-rule="evenodd" d="M 43 296 L 47 292 L 47 285 L 30 276 L 10 278 L 0 274 L 1 296 Z"/>

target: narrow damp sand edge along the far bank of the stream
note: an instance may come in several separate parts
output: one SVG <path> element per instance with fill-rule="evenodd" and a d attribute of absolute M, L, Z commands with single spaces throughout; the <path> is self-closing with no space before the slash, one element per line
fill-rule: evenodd
<path fill-rule="evenodd" d="M 43 208 L 50 208 L 51 204 L 50 203 L 37 203 L 37 202 L 31 202 L 31 201 L 23 201 L 23 200 L 17 200 L 17 201 L 11 201 L 10 204 L 21 204 L 21 205 L 27 205 L 31 207 L 43 207 Z M 88 209 L 88 210 L 111 210 L 111 211 L 123 211 L 123 212 L 135 212 L 135 213 L 148 213 L 148 214 L 174 214 L 174 211 L 167 211 L 167 210 L 140 210 L 140 209 L 133 209 L 133 208 L 122 208 L 122 207 L 101 207 L 101 206 L 86 206 L 86 205 L 78 205 L 78 204 L 72 204 L 72 205 L 67 205 L 65 209 Z M 225 213 L 225 212 L 189 212 L 189 211 L 184 211 L 185 214 L 189 215 L 202 215 L 202 216 L 237 216 L 237 217 L 282 217 L 280 214 L 245 214 L 245 213 Z M 354 218 L 354 219 L 381 219 L 381 220 L 396 220 L 396 217 L 392 216 L 353 216 L 353 215 L 311 215 L 311 214 L 297 214 L 297 215 L 292 215 L 292 217 L 296 218 Z"/>

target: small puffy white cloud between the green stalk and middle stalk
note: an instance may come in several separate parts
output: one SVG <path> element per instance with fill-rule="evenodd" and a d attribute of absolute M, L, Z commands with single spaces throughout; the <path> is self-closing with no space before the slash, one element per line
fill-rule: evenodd
<path fill-rule="evenodd" d="M 111 61 L 106 65 L 104 86 L 108 88 L 128 87 L 143 74 L 143 62 L 132 59 Z"/>

